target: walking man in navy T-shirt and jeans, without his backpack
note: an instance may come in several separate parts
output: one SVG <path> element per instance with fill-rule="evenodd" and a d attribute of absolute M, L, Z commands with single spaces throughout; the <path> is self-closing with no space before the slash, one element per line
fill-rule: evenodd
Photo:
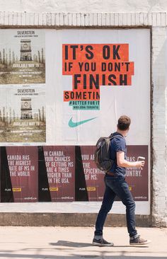
<path fill-rule="evenodd" d="M 137 230 L 135 228 L 135 203 L 132 194 L 129 191 L 129 186 L 125 181 L 127 167 L 144 166 L 144 161 L 127 161 L 125 137 L 127 137 L 130 122 L 129 117 L 121 116 L 117 122 L 117 131 L 112 135 L 112 137 L 116 137 L 110 141 L 110 159 L 115 162 L 110 171 L 105 173 L 105 193 L 96 219 L 96 230 L 93 238 L 93 245 L 95 246 L 114 245 L 113 243 L 105 241 L 103 238 L 103 226 L 116 196 L 119 197 L 122 203 L 126 206 L 127 231 L 129 233 L 130 245 L 144 245 L 150 242 L 141 238 L 137 234 Z"/>

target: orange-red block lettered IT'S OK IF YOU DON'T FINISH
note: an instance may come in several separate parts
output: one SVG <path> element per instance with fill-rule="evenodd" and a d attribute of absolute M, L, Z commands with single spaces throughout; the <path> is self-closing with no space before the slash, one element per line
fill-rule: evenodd
<path fill-rule="evenodd" d="M 132 85 L 129 44 L 63 44 L 62 61 L 62 74 L 73 78 L 71 91 L 64 91 L 64 102 L 98 101 L 100 86 Z"/>

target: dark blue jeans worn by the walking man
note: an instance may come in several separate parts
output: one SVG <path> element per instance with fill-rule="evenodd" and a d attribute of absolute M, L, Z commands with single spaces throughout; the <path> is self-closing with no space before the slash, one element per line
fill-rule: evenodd
<path fill-rule="evenodd" d="M 105 193 L 103 196 L 103 202 L 98 212 L 96 220 L 95 236 L 103 236 L 103 226 L 108 212 L 113 206 L 115 196 L 120 198 L 122 203 L 126 206 L 126 219 L 127 219 L 127 231 L 129 236 L 136 236 L 137 230 L 135 229 L 135 203 L 129 186 L 125 181 L 124 176 L 110 176 L 105 175 Z"/>

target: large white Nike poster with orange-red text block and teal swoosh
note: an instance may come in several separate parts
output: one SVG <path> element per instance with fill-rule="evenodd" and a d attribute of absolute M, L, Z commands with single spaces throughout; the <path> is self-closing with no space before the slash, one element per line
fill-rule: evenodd
<path fill-rule="evenodd" d="M 115 131 L 120 115 L 129 115 L 127 144 L 149 145 L 149 30 L 50 30 L 46 35 L 47 88 L 52 88 L 47 142 L 95 144 Z"/>

